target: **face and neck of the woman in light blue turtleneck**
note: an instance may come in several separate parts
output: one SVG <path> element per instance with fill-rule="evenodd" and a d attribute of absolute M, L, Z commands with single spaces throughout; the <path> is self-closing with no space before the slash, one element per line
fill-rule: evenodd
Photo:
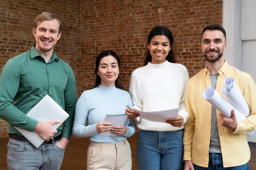
<path fill-rule="evenodd" d="M 112 55 L 103 57 L 99 63 L 97 75 L 101 77 L 102 86 L 115 86 L 115 80 L 119 75 L 119 67 L 115 57 Z"/>

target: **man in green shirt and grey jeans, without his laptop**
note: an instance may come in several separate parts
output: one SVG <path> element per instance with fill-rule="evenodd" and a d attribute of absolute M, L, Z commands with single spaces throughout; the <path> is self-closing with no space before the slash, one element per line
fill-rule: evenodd
<path fill-rule="evenodd" d="M 0 75 L 0 117 L 9 123 L 7 162 L 11 170 L 61 168 L 77 101 L 72 68 L 54 52 L 61 28 L 61 21 L 53 13 L 38 15 L 33 28 L 36 44 L 11 58 Z M 59 120 L 39 122 L 26 115 L 45 95 L 70 115 L 57 130 L 53 124 Z M 34 147 L 14 126 L 37 132 L 45 142 Z"/>

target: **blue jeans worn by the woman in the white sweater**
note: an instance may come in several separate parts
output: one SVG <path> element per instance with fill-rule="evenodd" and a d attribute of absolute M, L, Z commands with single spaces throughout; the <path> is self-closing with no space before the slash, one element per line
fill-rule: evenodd
<path fill-rule="evenodd" d="M 139 170 L 184 170 L 183 132 L 139 131 L 137 164 Z"/>

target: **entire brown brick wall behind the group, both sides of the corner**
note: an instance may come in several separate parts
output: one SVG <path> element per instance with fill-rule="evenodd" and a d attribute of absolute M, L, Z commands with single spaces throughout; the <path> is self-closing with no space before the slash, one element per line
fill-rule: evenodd
<path fill-rule="evenodd" d="M 94 85 L 95 58 L 104 50 L 121 58 L 120 78 L 128 90 L 130 74 L 144 64 L 148 33 L 158 25 L 171 30 L 176 61 L 195 75 L 205 64 L 202 29 L 222 23 L 222 0 L 2 0 L 0 72 L 9 58 L 31 48 L 33 20 L 43 11 L 53 11 L 63 22 L 55 51 L 73 68 L 79 96 Z M 7 135 L 6 129 L 0 119 L 0 137 Z"/>

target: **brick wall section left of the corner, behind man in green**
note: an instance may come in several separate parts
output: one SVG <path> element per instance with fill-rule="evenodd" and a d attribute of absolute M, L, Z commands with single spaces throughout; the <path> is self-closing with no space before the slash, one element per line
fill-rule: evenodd
<path fill-rule="evenodd" d="M 11 57 L 30 50 L 35 43 L 34 18 L 52 11 L 60 18 L 62 36 L 54 50 L 79 73 L 81 58 L 81 0 L 2 0 L 0 3 L 0 72 Z M 79 86 L 78 86 L 79 89 Z M 7 122 L 0 119 L 0 137 L 7 136 Z"/>

